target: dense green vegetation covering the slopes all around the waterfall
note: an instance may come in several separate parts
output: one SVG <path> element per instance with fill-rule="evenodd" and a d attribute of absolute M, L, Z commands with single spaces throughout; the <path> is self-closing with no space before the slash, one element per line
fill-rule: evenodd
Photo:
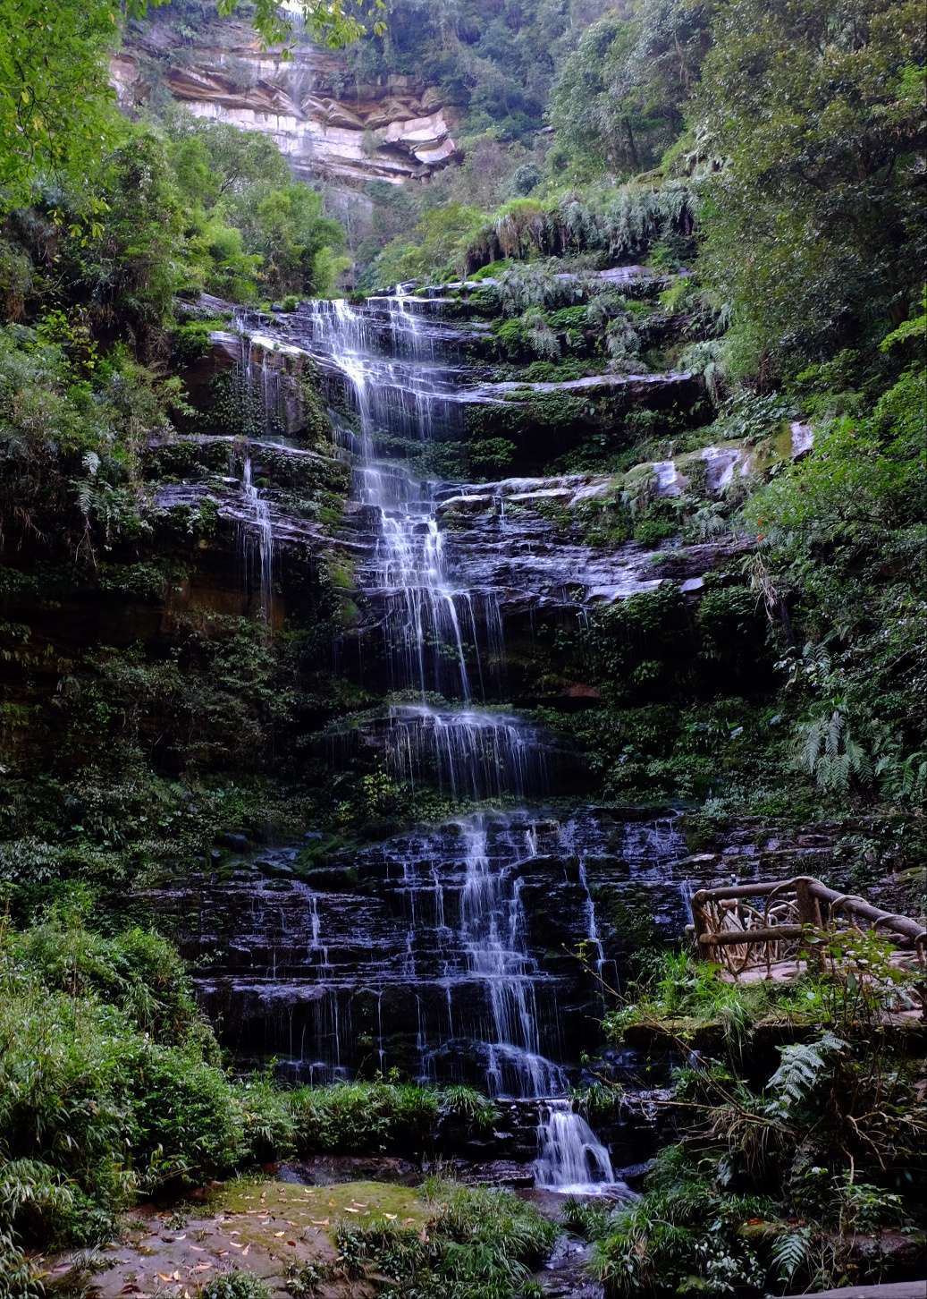
<path fill-rule="evenodd" d="M 190 0 L 182 17 L 213 8 Z M 636 542 L 656 575 L 674 575 L 678 540 L 730 542 L 695 605 L 658 587 L 517 646 L 523 698 L 582 750 L 604 800 L 686 801 L 709 835 L 734 816 L 827 817 L 853 844 L 869 835 L 859 887 L 897 870 L 918 905 L 921 6 L 303 9 L 332 42 L 375 25 L 345 79 L 414 74 L 462 117 L 460 165 L 415 190 L 366 187 L 360 290 L 471 277 L 449 309 L 488 325 L 487 378 L 679 368 L 702 386 L 692 409 L 612 422 L 525 390 L 492 418 L 475 409 L 461 442 L 408 448 L 448 477 L 608 477 L 595 501 L 548 508 L 554 538 Z M 273 5 L 248 12 L 286 35 Z M 266 412 L 234 377 L 197 392 L 197 365 L 229 303 L 335 291 L 345 240 L 321 191 L 261 135 L 164 105 L 121 117 L 114 6 L 0 0 L 0 1295 L 31 1299 L 23 1251 L 100 1243 L 140 1196 L 297 1154 L 421 1157 L 443 1128 L 480 1135 L 496 1115 L 466 1089 L 235 1077 L 142 914 L 138 890 L 225 861 L 229 831 L 253 847 L 312 826 L 344 844 L 453 808 L 362 761 L 330 773 L 319 738 L 382 703 L 331 666 L 356 613 L 349 559 L 286 557 L 277 582 L 299 599 L 273 634 L 223 578 L 239 539 L 210 486 L 243 474 L 243 435 L 266 431 Z M 644 291 L 593 279 L 631 261 L 654 273 Z M 318 375 L 300 383 L 293 436 L 312 455 L 273 490 L 335 529 L 347 474 Z M 792 422 L 814 430 L 795 461 Z M 204 440 L 178 449 L 177 430 Z M 711 494 L 693 465 L 715 444 L 747 448 L 756 472 Z M 671 499 L 648 468 L 666 460 L 688 465 Z M 203 491 L 183 495 L 191 483 Z M 576 681 L 591 704 L 563 709 Z M 898 979 L 878 942 L 841 956 L 849 977 L 735 994 L 663 955 L 609 1015 L 615 1046 L 673 1021 L 687 1046 L 710 1025 L 711 1047 L 675 1079 L 674 1143 L 641 1199 L 570 1211 L 609 1295 L 843 1283 L 858 1267 L 847 1242 L 923 1229 L 922 1061 L 880 1028 Z M 750 1050 L 769 1056 L 770 1018 L 800 1040 L 763 1069 Z M 345 1228 L 345 1265 L 386 1295 L 530 1293 L 544 1221 L 447 1186 L 434 1204 L 431 1235 Z M 260 1295 L 249 1286 L 203 1293 Z"/>

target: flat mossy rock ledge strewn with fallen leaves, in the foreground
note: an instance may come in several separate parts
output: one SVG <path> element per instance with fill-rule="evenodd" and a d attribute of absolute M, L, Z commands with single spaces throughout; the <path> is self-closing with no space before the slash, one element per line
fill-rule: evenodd
<path fill-rule="evenodd" d="M 556 1229 L 505 1191 L 438 1177 L 306 1186 L 241 1181 L 170 1218 L 129 1226 L 118 1260 L 104 1252 L 93 1287 L 116 1299 L 126 1277 L 167 1276 L 209 1299 L 412 1293 L 521 1299 Z M 199 1241 L 199 1244 L 193 1244 Z M 66 1276 L 68 1260 L 52 1276 Z"/>

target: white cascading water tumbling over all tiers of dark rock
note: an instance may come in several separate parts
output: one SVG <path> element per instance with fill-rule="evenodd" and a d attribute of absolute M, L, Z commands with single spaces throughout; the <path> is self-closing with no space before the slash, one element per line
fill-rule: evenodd
<path fill-rule="evenodd" d="M 396 295 L 369 300 L 366 313 L 345 301 L 319 301 L 291 326 L 291 333 L 303 330 L 296 334 L 301 347 L 343 375 L 352 397 L 356 421 L 353 427 L 341 425 L 341 440 L 354 461 L 353 498 L 374 531 L 357 582 L 382 611 L 392 685 L 418 695 L 417 701 L 389 709 L 383 725 L 387 764 L 413 785 L 428 781 L 454 796 L 543 796 L 549 759 L 543 734 L 518 717 L 474 705 L 489 664 L 504 651 L 497 599 L 491 590 L 467 586 L 466 570 L 448 566 L 436 485 L 414 477 L 402 460 L 427 451 L 454 418 L 453 372 L 436 359 L 417 304 L 400 286 Z M 249 460 L 243 486 L 260 538 L 264 607 L 273 534 Z M 430 692 L 452 703 L 436 707 Z M 410 1047 L 419 1076 L 467 1077 L 478 1068 L 491 1095 L 538 1100 L 539 1185 L 571 1190 L 613 1185 L 608 1151 L 560 1099 L 567 1074 L 557 1063 L 563 1055 L 556 981 L 530 955 L 522 899 L 522 872 L 539 853 L 538 825 L 526 812 L 476 813 L 447 827 L 445 835 L 440 869 L 431 857 L 431 840 L 425 852 L 401 863 L 406 927 L 400 968 L 383 968 L 369 985 L 375 1059 L 382 1068 L 387 1056 L 384 995 L 392 1004 L 414 983 Z M 571 851 L 567 842 L 560 847 Z M 586 937 L 601 970 L 604 952 L 584 861 L 579 885 Z M 351 1033 L 352 1002 L 345 999 L 348 987 L 357 986 L 357 963 L 352 973 L 341 972 L 321 933 L 315 896 L 303 905 L 317 972 L 306 998 L 313 1050 L 325 1051 L 328 1077 L 336 1077 Z M 434 939 L 426 946 L 428 933 Z M 425 969 L 431 970 L 435 989 L 427 1000 Z M 292 1035 L 292 1011 L 290 1024 Z M 300 1051 L 305 1034 L 304 1026 Z"/>

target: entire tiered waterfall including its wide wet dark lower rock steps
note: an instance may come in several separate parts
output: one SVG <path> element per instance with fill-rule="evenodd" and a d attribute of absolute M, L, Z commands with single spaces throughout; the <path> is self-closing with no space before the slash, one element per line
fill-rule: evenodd
<path fill-rule="evenodd" d="M 482 811 L 336 853 L 306 881 L 292 872 L 297 850 L 282 848 L 265 855 L 261 881 L 204 885 L 200 992 L 230 1046 L 275 1056 L 293 1078 L 395 1066 L 535 1102 L 539 1183 L 606 1186 L 609 1152 L 566 1099 L 597 1035 L 596 973 L 610 960 L 589 881 L 656 890 L 683 850 L 669 820 L 554 809 L 563 755 L 497 700 L 512 609 L 534 617 L 544 603 L 569 604 L 576 582 L 609 599 L 652 583 L 570 547 L 541 555 L 530 526 L 506 516 L 506 495 L 523 482 L 482 488 L 496 494 L 482 533 L 445 531 L 444 504 L 473 488 L 408 464 L 460 438 L 467 404 L 480 397 L 460 359 L 466 327 L 445 323 L 436 305 L 397 291 L 361 308 L 306 304 L 273 335 L 245 322 L 244 368 L 271 410 L 280 400 L 274 349 L 312 357 L 339 395 L 332 414 L 352 465 L 364 607 L 340 652 L 391 699 L 364 742 L 379 746 L 397 778 Z M 266 612 L 282 525 L 251 460 L 241 492 Z M 332 737 L 332 761 L 354 742 L 357 730 Z"/>

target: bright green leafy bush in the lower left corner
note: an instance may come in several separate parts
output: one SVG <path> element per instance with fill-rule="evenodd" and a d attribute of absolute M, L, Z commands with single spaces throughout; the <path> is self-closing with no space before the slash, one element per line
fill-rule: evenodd
<path fill-rule="evenodd" d="M 225 1076 L 203 1055 L 214 1042 L 177 957 L 160 968 L 160 939 L 103 940 L 71 921 L 58 956 L 51 938 L 48 927 L 0 935 L 0 1168 L 30 1187 L 8 1192 L 3 1222 L 25 1242 L 92 1243 L 136 1189 L 234 1168 L 241 1121 Z M 148 969 L 129 974 L 126 961 L 139 955 Z"/>

